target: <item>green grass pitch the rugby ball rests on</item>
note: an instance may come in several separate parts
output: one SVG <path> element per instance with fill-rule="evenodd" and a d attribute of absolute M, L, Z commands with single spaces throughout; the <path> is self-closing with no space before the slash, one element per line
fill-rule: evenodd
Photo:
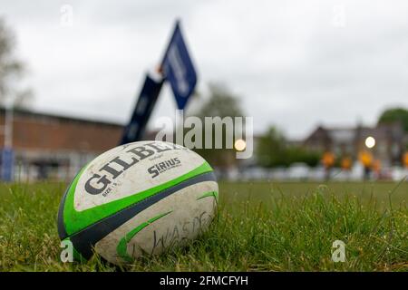
<path fill-rule="evenodd" d="M 61 183 L 0 186 L 0 271 L 115 271 L 60 262 Z M 408 182 L 220 183 L 219 215 L 188 247 L 132 271 L 408 271 Z M 332 244 L 345 242 L 345 263 Z"/>

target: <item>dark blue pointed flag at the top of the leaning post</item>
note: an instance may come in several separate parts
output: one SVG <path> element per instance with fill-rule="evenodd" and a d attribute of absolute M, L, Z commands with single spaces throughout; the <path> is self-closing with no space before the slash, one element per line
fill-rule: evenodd
<path fill-rule="evenodd" d="M 194 92 L 197 74 L 184 43 L 179 22 L 176 23 L 169 47 L 164 54 L 161 69 L 166 81 L 170 82 L 177 106 L 180 110 L 184 109 L 189 96 Z"/>

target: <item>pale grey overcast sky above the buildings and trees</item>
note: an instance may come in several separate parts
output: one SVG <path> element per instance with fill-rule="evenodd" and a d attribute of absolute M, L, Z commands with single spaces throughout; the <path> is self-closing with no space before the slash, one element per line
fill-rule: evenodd
<path fill-rule="evenodd" d="M 128 121 L 178 17 L 199 90 L 226 84 L 257 132 L 276 124 L 302 138 L 319 123 L 371 125 L 408 106 L 406 0 L 2 0 L 0 15 L 37 111 Z M 166 87 L 152 117 L 175 108 Z"/>

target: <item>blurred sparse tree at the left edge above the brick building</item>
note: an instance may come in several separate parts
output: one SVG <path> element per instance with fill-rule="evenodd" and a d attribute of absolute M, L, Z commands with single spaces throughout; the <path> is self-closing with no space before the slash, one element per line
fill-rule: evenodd
<path fill-rule="evenodd" d="M 17 83 L 24 75 L 24 64 L 15 58 L 14 51 L 15 36 L 0 18 L 0 105 L 5 106 L 6 99 L 13 98 L 14 107 L 24 107 L 31 92 Z"/>

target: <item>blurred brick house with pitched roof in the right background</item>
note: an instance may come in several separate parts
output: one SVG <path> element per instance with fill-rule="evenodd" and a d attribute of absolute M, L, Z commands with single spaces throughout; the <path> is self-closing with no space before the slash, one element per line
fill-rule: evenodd
<path fill-rule="evenodd" d="M 373 137 L 374 148 L 368 149 L 365 140 Z M 310 150 L 331 151 L 336 156 L 351 156 L 357 159 L 362 150 L 371 150 L 374 158 L 384 166 L 401 164 L 406 149 L 407 135 L 400 123 L 380 124 L 376 127 L 357 125 L 355 128 L 326 128 L 318 126 L 306 140 L 304 146 Z"/>

